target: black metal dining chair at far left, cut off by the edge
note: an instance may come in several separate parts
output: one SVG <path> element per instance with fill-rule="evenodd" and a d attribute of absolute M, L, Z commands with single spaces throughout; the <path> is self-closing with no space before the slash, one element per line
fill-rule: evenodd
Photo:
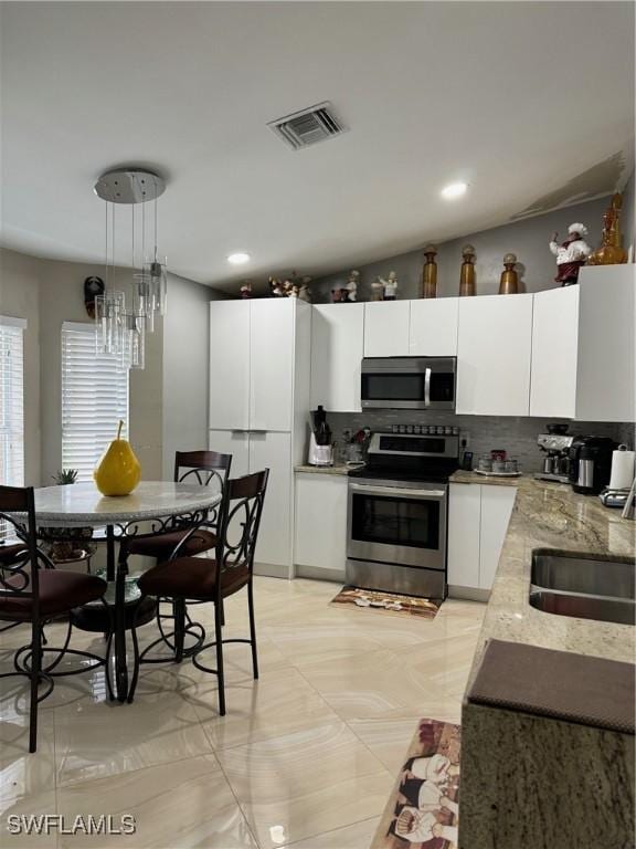
<path fill-rule="evenodd" d="M 15 514 L 20 514 L 18 518 Z M 62 649 L 43 648 L 43 628 L 52 619 L 68 616 L 73 608 L 97 601 L 106 591 L 106 581 L 95 575 L 55 569 L 46 555 L 38 548 L 33 488 L 0 486 L 0 521 L 12 525 L 23 541 L 22 549 L 11 557 L 0 558 L 0 621 L 31 625 L 31 640 L 15 652 L 15 671 L 0 678 L 26 675 L 30 679 L 29 752 L 38 747 L 38 704 L 53 690 L 53 670 L 65 653 L 89 658 L 96 664 L 104 658 L 89 652 L 68 649 L 71 621 Z M 44 652 L 54 652 L 46 665 Z M 91 669 L 94 669 L 93 664 Z M 83 667 L 65 674 L 88 671 Z M 40 686 L 46 684 L 42 692 Z"/>

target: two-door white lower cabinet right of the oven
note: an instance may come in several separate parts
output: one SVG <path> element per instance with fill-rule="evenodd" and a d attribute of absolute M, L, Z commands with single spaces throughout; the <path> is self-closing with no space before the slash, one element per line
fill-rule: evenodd
<path fill-rule="evenodd" d="M 448 496 L 448 586 L 488 591 L 499 565 L 516 486 L 452 483 Z"/>

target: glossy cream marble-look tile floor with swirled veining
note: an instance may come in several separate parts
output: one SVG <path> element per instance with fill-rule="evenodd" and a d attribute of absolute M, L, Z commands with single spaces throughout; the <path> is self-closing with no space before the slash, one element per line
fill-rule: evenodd
<path fill-rule="evenodd" d="M 97 670 L 59 680 L 28 755 L 22 680 L 0 680 L 2 848 L 368 849 L 416 720 L 459 721 L 485 606 L 451 600 L 434 620 L 411 620 L 329 607 L 337 590 L 256 579 L 261 680 L 248 647 L 226 648 L 224 717 L 215 678 L 188 661 L 144 667 L 131 705 L 106 701 Z M 211 623 L 211 612 L 195 618 Z M 229 600 L 225 630 L 247 633 L 244 594 Z M 24 633 L 0 635 L 0 671 Z M 77 633 L 74 644 L 92 639 Z M 129 814 L 137 830 L 7 832 L 10 814 L 47 813 Z"/>

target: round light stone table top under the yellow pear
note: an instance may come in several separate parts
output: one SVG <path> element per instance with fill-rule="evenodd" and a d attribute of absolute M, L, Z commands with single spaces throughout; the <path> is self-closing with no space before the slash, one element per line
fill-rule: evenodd
<path fill-rule="evenodd" d="M 71 483 L 35 490 L 35 521 L 38 525 L 96 527 L 184 515 L 220 501 L 219 492 L 191 483 L 141 481 L 130 495 L 114 496 L 102 495 L 94 483 Z"/>

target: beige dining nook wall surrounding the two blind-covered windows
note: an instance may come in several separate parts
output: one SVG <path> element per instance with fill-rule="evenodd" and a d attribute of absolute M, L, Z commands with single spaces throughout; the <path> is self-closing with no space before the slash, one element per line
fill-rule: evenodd
<path fill-rule="evenodd" d="M 89 321 L 84 280 L 103 276 L 103 271 L 0 250 L 0 313 L 28 322 L 24 452 L 30 485 L 49 485 L 62 465 L 62 325 Z M 118 269 L 117 274 L 127 285 L 130 271 Z M 170 275 L 167 333 L 159 319 L 147 336 L 146 368 L 130 371 L 130 442 L 146 480 L 172 476 L 176 449 L 206 446 L 208 303 L 216 296 Z"/>

